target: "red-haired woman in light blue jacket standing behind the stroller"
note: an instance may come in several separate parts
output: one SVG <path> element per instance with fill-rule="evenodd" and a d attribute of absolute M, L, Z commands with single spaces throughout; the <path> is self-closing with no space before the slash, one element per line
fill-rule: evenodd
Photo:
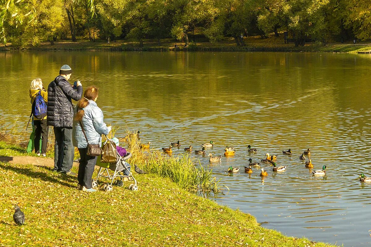
<path fill-rule="evenodd" d="M 96 191 L 92 188 L 92 176 L 97 160 L 97 156 L 87 154 L 88 142 L 89 144 L 100 144 L 102 142 L 101 135 L 107 135 L 111 131 L 111 126 L 107 127 L 103 121 L 102 110 L 95 103 L 97 98 L 98 89 L 96 87 L 88 87 L 85 90 L 84 97 L 79 100 L 75 108 L 72 128 L 73 146 L 77 147 L 80 153 L 78 188 L 88 192 Z M 88 142 L 86 142 L 81 127 L 84 128 Z"/>

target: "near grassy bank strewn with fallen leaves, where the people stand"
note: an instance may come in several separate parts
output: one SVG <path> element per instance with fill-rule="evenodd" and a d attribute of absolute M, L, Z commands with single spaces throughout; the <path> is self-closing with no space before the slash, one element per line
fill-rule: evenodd
<path fill-rule="evenodd" d="M 0 142 L 0 156 L 22 154 Z M 126 182 L 88 194 L 50 167 L 0 162 L 0 173 L 0 246 L 330 246 L 261 227 L 155 174 L 137 175 L 138 191 Z M 26 214 L 21 227 L 16 204 Z"/>

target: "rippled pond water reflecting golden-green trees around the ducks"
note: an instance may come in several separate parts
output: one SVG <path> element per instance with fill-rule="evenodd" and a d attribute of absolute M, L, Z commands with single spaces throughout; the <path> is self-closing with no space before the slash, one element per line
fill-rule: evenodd
<path fill-rule="evenodd" d="M 3 125 L 16 116 L 27 123 L 32 79 L 45 86 L 69 64 L 74 80 L 100 88 L 98 105 L 107 123 L 141 130 L 142 141 L 183 148 L 214 141 L 207 150 L 234 157 L 213 164 L 213 172 L 230 188 L 219 204 L 250 213 L 264 227 L 313 241 L 370 246 L 371 56 L 332 53 L 139 53 L 139 52 L 3 52 L 0 53 L 0 114 Z M 23 127 L 24 127 L 23 126 Z M 250 155 L 247 145 L 258 149 Z M 292 149 L 292 156 L 282 150 Z M 318 170 L 313 177 L 299 155 L 312 150 Z M 284 173 L 262 179 L 255 169 L 243 172 L 249 158 L 279 154 Z M 193 156 L 193 154 L 192 154 Z M 202 165 L 208 157 L 197 156 Z M 229 166 L 240 167 L 230 176 Z"/>

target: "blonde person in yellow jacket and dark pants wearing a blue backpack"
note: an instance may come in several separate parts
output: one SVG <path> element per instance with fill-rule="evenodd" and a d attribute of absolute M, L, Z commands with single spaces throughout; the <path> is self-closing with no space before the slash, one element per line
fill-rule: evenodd
<path fill-rule="evenodd" d="M 31 82 L 31 89 L 30 89 L 30 98 L 31 104 L 35 101 L 37 94 L 39 93 L 47 103 L 47 91 L 45 91 L 43 87 L 43 82 L 40 78 L 36 78 Z M 46 126 L 46 116 L 43 119 L 37 119 L 36 117 L 33 118 L 33 124 L 35 125 L 35 153 L 40 155 L 40 138 L 41 141 L 41 154 L 42 156 L 46 156 L 46 146 L 47 146 L 47 135 L 49 131 L 49 127 Z"/>

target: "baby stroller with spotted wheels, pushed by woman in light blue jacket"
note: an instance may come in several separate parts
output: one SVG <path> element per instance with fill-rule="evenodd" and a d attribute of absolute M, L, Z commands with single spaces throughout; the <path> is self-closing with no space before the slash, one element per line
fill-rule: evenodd
<path fill-rule="evenodd" d="M 96 179 L 93 179 L 92 181 L 92 187 L 96 188 L 98 186 L 99 177 L 104 177 L 111 180 L 111 183 L 105 183 L 103 189 L 105 191 L 112 191 L 113 189 L 112 184 L 122 187 L 124 186 L 122 180 L 124 178 L 127 178 L 128 180 L 134 180 L 134 184 L 129 185 L 129 190 L 132 191 L 138 190 L 137 180 L 135 180 L 134 176 L 129 170 L 129 168 L 131 167 L 130 164 L 126 162 L 132 156 L 132 154 L 128 152 L 124 157 L 121 157 L 116 151 L 116 155 L 117 155 L 116 163 L 102 163 L 101 159 L 98 158 L 96 166 L 99 166 L 99 171 L 98 175 L 96 176 Z M 113 171 L 112 175 L 109 173 L 109 170 Z M 119 180 L 116 180 L 114 182 L 115 178 L 119 178 Z"/>

